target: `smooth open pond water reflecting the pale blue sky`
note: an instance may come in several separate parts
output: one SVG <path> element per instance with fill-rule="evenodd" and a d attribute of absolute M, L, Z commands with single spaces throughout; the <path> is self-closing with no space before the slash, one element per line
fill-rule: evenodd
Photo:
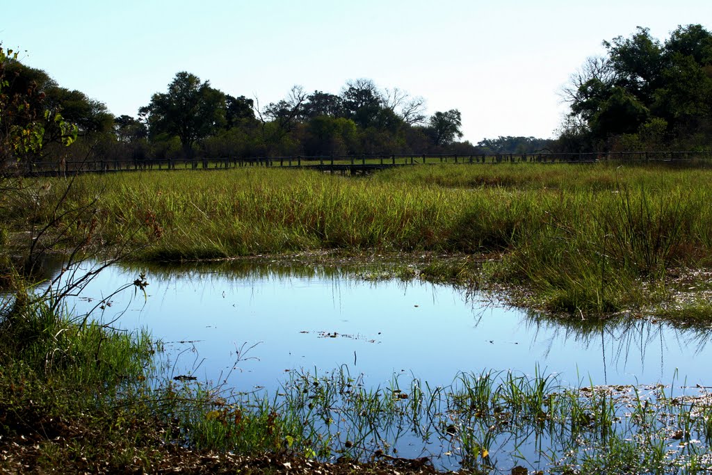
<path fill-rule="evenodd" d="M 100 298 L 137 273 L 110 268 L 88 286 Z M 236 349 L 256 345 L 229 383 L 239 390 L 277 387 L 285 370 L 332 370 L 346 365 L 366 382 L 382 385 L 394 373 L 411 373 L 430 385 L 450 384 L 457 372 L 516 370 L 584 385 L 669 382 L 707 385 L 706 335 L 645 320 L 611 323 L 582 332 L 522 310 L 468 301 L 448 286 L 414 281 L 370 283 L 343 277 L 234 278 L 182 271 L 147 275 L 148 299 L 133 291 L 113 298 L 104 315 L 120 328 L 148 328 L 165 342 L 195 341 L 175 372 L 201 363 L 194 375 L 217 382 L 229 372 Z M 78 301 L 78 311 L 87 303 Z M 537 323 L 538 322 L 538 323 Z M 325 333 L 337 333 L 336 338 Z M 191 348 L 189 344 L 167 345 Z M 354 360 L 356 360 L 354 362 Z"/>

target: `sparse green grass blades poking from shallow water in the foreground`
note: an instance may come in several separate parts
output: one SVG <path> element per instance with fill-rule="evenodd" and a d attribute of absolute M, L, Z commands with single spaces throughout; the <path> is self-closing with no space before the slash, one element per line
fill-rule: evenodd
<path fill-rule="evenodd" d="M 473 473 L 513 463 L 552 473 L 706 471 L 709 395 L 671 391 L 569 387 L 538 372 L 463 373 L 448 387 L 394 377 L 386 387 L 369 388 L 342 368 L 294 374 L 272 399 L 218 402 L 191 429 L 213 448 L 249 450 L 242 445 L 249 434 L 325 459 L 397 460 L 397 447 L 411 447 L 405 454 L 411 461 L 424 461 L 413 455 L 419 454 Z M 251 429 L 245 419 L 259 423 Z"/>

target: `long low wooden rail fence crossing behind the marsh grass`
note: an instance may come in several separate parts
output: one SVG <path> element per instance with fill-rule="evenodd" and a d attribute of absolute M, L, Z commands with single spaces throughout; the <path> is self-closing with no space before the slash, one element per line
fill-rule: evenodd
<path fill-rule="evenodd" d="M 319 157 L 224 157 L 199 159 L 83 160 L 32 162 L 16 165 L 26 176 L 80 173 L 112 173 L 141 170 L 231 169 L 241 167 L 310 168 L 324 172 L 368 173 L 411 165 L 497 163 L 594 163 L 594 162 L 708 162 L 712 152 L 581 152 L 510 153 L 479 155 L 328 155 Z"/>

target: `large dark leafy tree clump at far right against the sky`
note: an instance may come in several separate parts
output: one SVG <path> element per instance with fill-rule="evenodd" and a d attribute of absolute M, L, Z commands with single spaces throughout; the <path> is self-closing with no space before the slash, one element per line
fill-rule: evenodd
<path fill-rule="evenodd" d="M 562 138 L 588 149 L 705 147 L 712 138 L 712 33 L 679 26 L 661 42 L 648 28 L 604 41 L 564 90 Z"/>

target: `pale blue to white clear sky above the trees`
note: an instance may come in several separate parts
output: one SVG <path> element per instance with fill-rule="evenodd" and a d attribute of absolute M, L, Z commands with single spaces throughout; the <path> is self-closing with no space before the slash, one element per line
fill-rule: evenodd
<path fill-rule="evenodd" d="M 561 88 L 602 41 L 712 29 L 712 1 L 0 0 L 0 42 L 59 85 L 136 116 L 179 71 L 261 105 L 369 78 L 458 109 L 462 140 L 555 137 Z"/>

